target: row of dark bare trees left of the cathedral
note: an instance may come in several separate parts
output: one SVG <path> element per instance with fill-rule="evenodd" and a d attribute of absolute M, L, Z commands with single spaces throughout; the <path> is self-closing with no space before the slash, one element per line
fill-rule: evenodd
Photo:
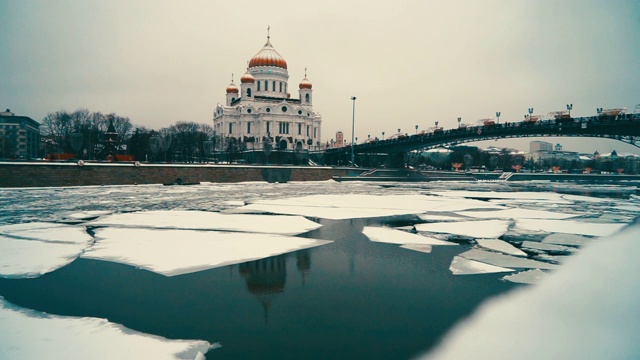
<path fill-rule="evenodd" d="M 44 152 L 72 153 L 78 158 L 101 159 L 105 133 L 112 123 L 117 133 L 118 152 L 148 161 L 206 161 L 216 137 L 209 124 L 178 121 L 160 130 L 132 124 L 128 117 L 78 109 L 47 114 L 40 133 Z"/>

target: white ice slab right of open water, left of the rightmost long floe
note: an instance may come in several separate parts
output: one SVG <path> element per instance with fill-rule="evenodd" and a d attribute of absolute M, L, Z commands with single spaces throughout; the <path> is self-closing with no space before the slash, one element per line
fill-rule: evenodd
<path fill-rule="evenodd" d="M 455 221 L 416 224 L 417 231 L 447 233 L 473 238 L 498 238 L 507 232 L 510 222 L 505 220 Z"/>

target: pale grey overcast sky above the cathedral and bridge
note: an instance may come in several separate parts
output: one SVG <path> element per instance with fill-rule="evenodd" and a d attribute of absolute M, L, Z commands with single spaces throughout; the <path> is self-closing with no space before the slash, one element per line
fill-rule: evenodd
<path fill-rule="evenodd" d="M 323 140 L 414 133 L 502 113 L 520 121 L 573 104 L 640 103 L 638 0 L 88 1 L 0 0 L 0 107 L 38 121 L 49 112 L 115 112 L 153 129 L 212 124 L 264 45 L 308 68 Z M 516 146 L 526 140 L 477 143 Z M 566 150 L 640 149 L 553 138 Z"/>

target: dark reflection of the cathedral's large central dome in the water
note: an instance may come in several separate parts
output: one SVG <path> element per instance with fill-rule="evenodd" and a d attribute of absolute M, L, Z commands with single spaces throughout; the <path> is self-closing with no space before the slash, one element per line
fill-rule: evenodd
<path fill-rule="evenodd" d="M 287 282 L 285 255 L 240 264 L 240 275 L 247 283 L 247 290 L 262 304 L 264 322 L 268 323 L 269 306 L 284 291 Z"/>

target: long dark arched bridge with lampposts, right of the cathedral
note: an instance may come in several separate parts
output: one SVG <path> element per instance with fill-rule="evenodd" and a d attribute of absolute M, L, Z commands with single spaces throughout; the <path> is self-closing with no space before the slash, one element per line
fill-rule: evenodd
<path fill-rule="evenodd" d="M 536 122 L 506 122 L 481 126 L 466 126 L 434 132 L 398 136 L 387 140 L 370 140 L 355 146 L 327 149 L 327 164 L 349 164 L 351 153 L 363 156 L 386 156 L 389 165 L 403 164 L 404 155 L 413 150 L 428 150 L 467 142 L 524 137 L 597 137 L 614 139 L 640 147 L 640 114 L 598 115 L 591 117 L 539 120 Z"/>

